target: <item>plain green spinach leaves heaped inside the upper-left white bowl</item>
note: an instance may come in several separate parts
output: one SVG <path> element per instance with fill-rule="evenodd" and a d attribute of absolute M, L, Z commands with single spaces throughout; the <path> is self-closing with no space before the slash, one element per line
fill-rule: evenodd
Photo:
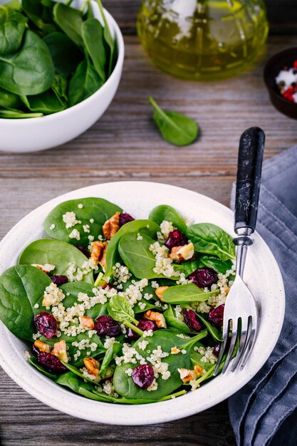
<path fill-rule="evenodd" d="M 0 118 L 38 118 L 93 95 L 109 78 L 117 48 L 102 23 L 71 2 L 11 0 L 0 6 Z"/>

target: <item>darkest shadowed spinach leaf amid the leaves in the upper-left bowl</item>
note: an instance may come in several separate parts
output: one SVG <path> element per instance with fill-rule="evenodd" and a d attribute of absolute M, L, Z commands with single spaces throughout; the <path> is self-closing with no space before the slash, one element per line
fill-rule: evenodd
<path fill-rule="evenodd" d="M 70 76 L 78 63 L 83 59 L 83 53 L 66 34 L 54 32 L 43 38 L 53 58 L 56 72 Z"/>

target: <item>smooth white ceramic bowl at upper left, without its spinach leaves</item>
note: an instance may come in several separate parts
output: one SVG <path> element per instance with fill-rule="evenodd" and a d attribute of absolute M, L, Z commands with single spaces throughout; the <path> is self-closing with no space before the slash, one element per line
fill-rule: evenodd
<path fill-rule="evenodd" d="M 82 3 L 82 0 L 77 0 L 73 6 L 79 7 Z M 93 0 L 92 3 L 94 14 L 99 18 L 97 5 Z M 118 45 L 118 61 L 110 78 L 90 98 L 61 112 L 42 118 L 0 118 L 0 150 L 24 153 L 56 147 L 83 133 L 103 115 L 118 89 L 125 53 L 118 24 L 106 10 L 105 15 Z"/>

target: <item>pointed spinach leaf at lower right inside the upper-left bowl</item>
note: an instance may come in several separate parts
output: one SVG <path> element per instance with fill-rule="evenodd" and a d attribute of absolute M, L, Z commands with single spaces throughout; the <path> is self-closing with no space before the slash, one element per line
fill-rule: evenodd
<path fill-rule="evenodd" d="M 87 59 L 80 62 L 69 83 L 68 98 L 72 107 L 93 95 L 103 85 L 103 80 Z"/>

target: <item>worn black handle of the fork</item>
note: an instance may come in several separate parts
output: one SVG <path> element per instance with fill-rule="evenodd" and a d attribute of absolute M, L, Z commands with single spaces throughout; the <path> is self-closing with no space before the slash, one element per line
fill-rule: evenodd
<path fill-rule="evenodd" d="M 256 229 L 265 133 L 251 127 L 241 135 L 236 180 L 235 222 L 236 234 L 251 234 Z M 246 235 L 248 235 L 245 232 Z"/>

